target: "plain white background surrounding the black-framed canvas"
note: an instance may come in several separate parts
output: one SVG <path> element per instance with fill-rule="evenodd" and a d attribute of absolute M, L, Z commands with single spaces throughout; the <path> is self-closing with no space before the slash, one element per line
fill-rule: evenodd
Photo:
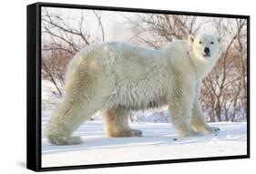
<path fill-rule="evenodd" d="M 33 173 L 25 169 L 26 163 L 26 5 L 33 0 L 8 0 L 1 2 L 0 18 L 0 173 Z M 52 0 L 59 3 L 87 5 L 114 5 L 124 7 L 168 9 L 176 11 L 209 12 L 251 15 L 251 67 L 255 67 L 256 11 L 251 0 Z M 4 54 L 3 54 L 4 53 Z M 251 68 L 251 77 L 255 75 Z M 251 81 L 251 88 L 256 87 Z M 256 102 L 251 90 L 251 103 Z M 251 134 L 255 134 L 255 107 L 251 107 Z M 255 138 L 251 136 L 251 159 L 208 161 L 197 163 L 164 164 L 111 169 L 69 170 L 48 173 L 242 173 L 251 171 L 256 164 Z M 207 170 L 207 171 L 206 171 Z"/>

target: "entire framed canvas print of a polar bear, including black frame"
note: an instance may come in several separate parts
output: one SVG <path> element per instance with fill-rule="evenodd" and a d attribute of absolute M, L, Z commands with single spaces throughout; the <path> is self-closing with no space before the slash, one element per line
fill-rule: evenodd
<path fill-rule="evenodd" d="M 250 16 L 27 5 L 27 169 L 250 158 Z"/>

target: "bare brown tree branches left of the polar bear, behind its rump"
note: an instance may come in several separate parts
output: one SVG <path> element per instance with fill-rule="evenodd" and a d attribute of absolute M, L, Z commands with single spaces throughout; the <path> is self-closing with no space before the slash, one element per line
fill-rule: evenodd
<path fill-rule="evenodd" d="M 101 13 L 92 11 L 91 14 L 97 18 L 104 42 L 105 32 Z M 87 26 L 87 14 L 83 10 L 79 17 L 49 12 L 47 8 L 42 10 L 42 77 L 56 87 L 58 96 L 62 95 L 64 76 L 70 59 L 82 47 L 98 40 L 97 36 L 92 36 Z"/>

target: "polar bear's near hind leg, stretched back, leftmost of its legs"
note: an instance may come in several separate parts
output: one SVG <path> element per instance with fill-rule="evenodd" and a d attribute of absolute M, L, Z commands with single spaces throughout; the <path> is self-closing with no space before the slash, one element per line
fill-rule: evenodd
<path fill-rule="evenodd" d="M 74 79 L 77 79 L 77 73 L 67 78 L 64 97 L 46 126 L 45 136 L 52 144 L 82 143 L 81 138 L 72 137 L 72 134 L 96 111 L 94 107 L 98 100 L 93 96 L 92 84 L 87 83 L 87 78 L 84 78 L 81 83 L 74 82 Z"/>

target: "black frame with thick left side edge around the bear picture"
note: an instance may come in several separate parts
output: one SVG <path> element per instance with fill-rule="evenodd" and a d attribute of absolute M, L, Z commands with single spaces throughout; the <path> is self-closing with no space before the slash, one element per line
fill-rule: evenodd
<path fill-rule="evenodd" d="M 226 156 L 226 157 L 209 157 L 197 159 L 169 159 L 169 160 L 153 160 L 139 161 L 128 163 L 110 163 L 110 164 L 92 164 L 81 166 L 64 166 L 42 168 L 41 166 L 41 8 L 42 7 L 62 7 L 76 9 L 94 9 L 94 10 L 110 10 L 122 12 L 142 12 L 142 13 L 157 13 L 171 15 L 197 15 L 210 17 L 227 17 L 227 18 L 242 18 L 247 20 L 247 154 L 241 156 Z M 134 165 L 152 165 L 162 163 L 179 163 L 179 162 L 194 162 L 207 160 L 223 160 L 223 159 L 248 159 L 250 158 L 250 16 L 249 15 L 227 15 L 227 14 L 210 14 L 210 13 L 195 13 L 195 12 L 178 12 L 169 10 L 153 10 L 153 9 L 138 9 L 138 8 L 123 8 L 112 6 L 95 6 L 95 5 L 68 5 L 68 4 L 53 4 L 53 3 L 36 3 L 27 5 L 27 127 L 26 127 L 26 168 L 35 171 L 48 171 L 60 169 L 92 169 Z"/>

